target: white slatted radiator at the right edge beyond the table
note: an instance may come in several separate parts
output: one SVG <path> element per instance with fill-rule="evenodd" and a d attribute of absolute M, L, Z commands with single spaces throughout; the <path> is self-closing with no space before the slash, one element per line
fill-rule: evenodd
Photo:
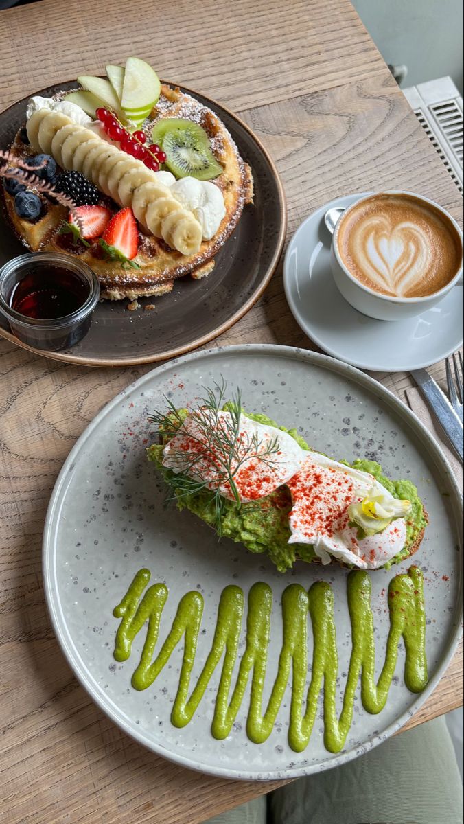
<path fill-rule="evenodd" d="M 462 193 L 462 97 L 451 77 L 439 77 L 402 91 Z"/>

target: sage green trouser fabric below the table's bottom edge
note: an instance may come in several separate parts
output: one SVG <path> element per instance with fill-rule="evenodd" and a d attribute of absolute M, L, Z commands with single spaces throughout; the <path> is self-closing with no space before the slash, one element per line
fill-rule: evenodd
<path fill-rule="evenodd" d="M 267 812 L 263 800 L 208 824 L 463 822 L 461 776 L 443 716 L 389 738 L 349 764 L 270 793 Z"/>

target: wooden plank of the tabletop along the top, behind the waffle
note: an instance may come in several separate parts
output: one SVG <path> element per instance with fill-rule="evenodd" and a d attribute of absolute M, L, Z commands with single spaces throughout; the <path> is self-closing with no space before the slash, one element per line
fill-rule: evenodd
<path fill-rule="evenodd" d="M 386 72 L 344 0 L 42 0 L 1 12 L 0 42 L 3 106 L 130 54 L 237 111 Z"/>

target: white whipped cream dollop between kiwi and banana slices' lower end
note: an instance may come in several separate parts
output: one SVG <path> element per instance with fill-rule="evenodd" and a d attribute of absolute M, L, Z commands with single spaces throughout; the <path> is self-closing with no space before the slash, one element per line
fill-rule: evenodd
<path fill-rule="evenodd" d="M 171 194 L 198 220 L 204 241 L 209 241 L 218 232 L 226 214 L 222 191 L 209 180 L 196 177 L 181 177 L 171 185 Z"/>

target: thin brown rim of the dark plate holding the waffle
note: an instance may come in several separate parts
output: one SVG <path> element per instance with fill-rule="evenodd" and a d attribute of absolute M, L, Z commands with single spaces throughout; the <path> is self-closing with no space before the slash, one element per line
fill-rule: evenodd
<path fill-rule="evenodd" d="M 59 86 L 65 85 L 67 83 L 77 83 L 77 79 L 73 78 L 71 80 L 61 80 L 56 83 L 52 83 L 51 86 Z M 236 311 L 231 317 L 224 321 L 223 324 L 215 327 L 211 330 L 208 334 L 202 335 L 199 338 L 195 338 L 190 344 L 185 344 L 184 346 L 178 346 L 174 349 L 169 349 L 166 352 L 159 353 L 157 355 L 138 355 L 132 358 L 120 358 L 120 360 L 113 360 L 112 358 L 82 358 L 78 355 L 64 354 L 60 352 L 50 352 L 47 349 L 35 349 L 35 347 L 30 346 L 29 344 L 24 343 L 19 338 L 16 338 L 16 335 L 13 335 L 11 331 L 7 329 L 3 329 L 0 326 L 0 337 L 10 341 L 12 344 L 16 344 L 21 349 L 26 349 L 27 352 L 33 353 L 35 355 L 40 355 L 41 358 L 46 358 L 47 360 L 55 360 L 60 361 L 61 363 L 76 363 L 77 365 L 81 366 L 90 366 L 90 367 L 105 367 L 105 368 L 119 368 L 119 367 L 127 367 L 127 366 L 141 366 L 144 363 L 158 363 L 160 361 L 164 361 L 171 358 L 178 358 L 181 355 L 191 352 L 195 349 L 198 349 L 200 346 L 204 346 L 212 341 L 214 338 L 218 338 L 219 335 L 223 335 L 224 332 L 231 329 L 233 325 L 235 325 L 238 321 L 241 320 L 243 316 L 246 315 L 248 311 L 255 305 L 255 303 L 260 299 L 261 295 L 265 292 L 265 289 L 268 287 L 270 279 L 272 278 L 275 269 L 279 265 L 280 256 L 282 255 L 282 250 L 284 249 L 285 237 L 287 235 L 287 223 L 288 223 L 288 207 L 287 207 L 287 197 L 285 195 L 284 185 L 282 180 L 279 176 L 279 171 L 277 166 L 270 156 L 268 150 L 265 148 L 264 144 L 261 142 L 260 138 L 257 137 L 253 129 L 245 123 L 244 120 L 241 119 L 238 115 L 235 114 L 232 110 L 228 109 L 227 106 L 219 103 L 215 98 L 206 96 L 202 94 L 200 91 L 195 91 L 195 89 L 190 88 L 189 86 L 184 86 L 180 83 L 175 83 L 172 81 L 162 80 L 162 83 L 166 83 L 167 86 L 174 86 L 179 87 L 180 89 L 184 89 L 188 94 L 193 96 L 199 95 L 203 97 L 205 101 L 208 101 L 208 104 L 213 104 L 213 106 L 217 106 L 218 109 L 222 109 L 227 113 L 232 120 L 236 120 L 238 124 L 240 124 L 242 129 L 250 135 L 251 139 L 255 143 L 255 145 L 259 148 L 262 155 L 264 155 L 266 162 L 269 164 L 271 175 L 274 178 L 275 184 L 277 185 L 278 195 L 279 195 L 279 208 L 280 208 L 280 227 L 279 232 L 276 239 L 276 246 L 274 249 L 274 254 L 270 260 L 269 266 L 264 274 L 264 277 L 261 279 L 260 284 L 255 291 L 251 294 L 251 296 L 246 300 L 246 302 Z M 49 87 L 45 87 L 49 88 Z M 26 95 L 25 97 L 21 97 L 21 100 L 15 101 L 11 105 L 6 106 L 4 109 L 0 110 L 0 116 L 7 113 L 11 110 L 14 106 L 18 105 L 26 101 L 30 96 L 34 94 L 39 94 L 40 91 L 33 91 L 30 95 Z M 234 139 L 234 138 L 232 138 Z"/>

